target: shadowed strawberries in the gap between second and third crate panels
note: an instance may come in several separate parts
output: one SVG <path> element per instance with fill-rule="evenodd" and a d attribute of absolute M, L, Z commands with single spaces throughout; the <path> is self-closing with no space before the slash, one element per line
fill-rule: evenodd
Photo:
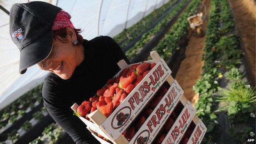
<path fill-rule="evenodd" d="M 178 118 L 179 113 L 181 113 L 183 109 L 183 105 L 181 102 L 177 104 L 174 111 L 171 113 L 170 117 L 165 122 L 165 125 L 162 126 L 161 130 L 159 131 L 158 135 L 155 137 L 154 142 L 152 144 L 161 144 L 162 141 L 165 139 L 165 136 L 171 129 L 171 126 L 174 124 L 174 121 Z"/>

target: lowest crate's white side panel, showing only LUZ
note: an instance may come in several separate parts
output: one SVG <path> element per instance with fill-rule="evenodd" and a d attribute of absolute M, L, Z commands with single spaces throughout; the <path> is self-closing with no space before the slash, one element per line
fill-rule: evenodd
<path fill-rule="evenodd" d="M 203 121 L 199 119 L 197 126 L 193 130 L 190 139 L 188 139 L 187 144 L 200 144 L 203 140 L 203 136 L 206 134 L 206 126 Z"/>

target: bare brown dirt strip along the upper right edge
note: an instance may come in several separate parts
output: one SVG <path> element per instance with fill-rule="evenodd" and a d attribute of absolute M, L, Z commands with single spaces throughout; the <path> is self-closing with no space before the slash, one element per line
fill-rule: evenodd
<path fill-rule="evenodd" d="M 235 29 L 242 38 L 248 79 L 255 86 L 255 1 L 229 0 L 233 10 Z"/>

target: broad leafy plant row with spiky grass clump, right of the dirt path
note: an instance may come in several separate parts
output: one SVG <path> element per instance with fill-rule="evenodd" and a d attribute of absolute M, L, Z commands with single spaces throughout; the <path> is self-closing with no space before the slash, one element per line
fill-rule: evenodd
<path fill-rule="evenodd" d="M 240 64 L 242 55 L 239 48 L 239 38 L 230 34 L 233 32 L 234 25 L 232 26 L 231 24 L 233 23 L 231 18 L 232 13 L 228 9 L 229 5 L 226 0 L 212 1 L 210 21 L 206 32 L 205 54 L 203 55 L 205 62 L 203 74 L 201 80 L 197 80 L 196 85 L 193 87 L 195 93 L 200 94 L 199 101 L 196 105 L 197 115 L 208 128 L 203 142 L 209 144 L 213 143 L 216 134 L 221 132 L 217 121 L 217 112 L 227 111 L 229 121 L 233 122 L 235 119 L 242 119 L 241 116 L 245 116 L 245 113 L 253 112 L 252 107 L 255 108 L 255 92 L 253 92 L 253 89 L 246 87 L 246 82 L 242 82 L 241 85 L 240 79 L 242 76 L 238 74 L 238 70 L 235 68 L 235 66 Z M 227 11 L 231 14 L 227 14 Z M 224 16 L 224 13 L 226 13 L 226 16 Z M 219 18 L 221 19 L 221 23 L 219 23 Z M 227 33 L 230 35 L 223 36 L 223 34 Z M 229 71 L 230 68 L 232 69 Z M 224 74 L 222 74 L 222 72 L 224 72 Z M 237 81 L 230 82 L 230 89 L 220 87 L 219 82 L 234 78 L 237 79 Z M 243 94 L 249 96 L 249 98 L 246 97 L 248 98 L 246 99 L 243 97 Z M 251 103 L 252 100 L 254 103 Z M 217 109 L 219 101 L 226 103 L 228 106 L 219 107 Z M 240 107 L 240 109 L 238 107 Z M 241 107 L 246 107 L 246 109 L 241 109 Z M 247 117 L 244 118 L 247 119 Z M 227 129 L 226 132 L 234 136 L 232 135 L 234 134 L 233 130 L 234 128 Z M 245 127 L 244 131 L 239 133 L 240 135 L 236 140 L 243 142 L 249 135 L 250 130 L 251 128 Z"/>

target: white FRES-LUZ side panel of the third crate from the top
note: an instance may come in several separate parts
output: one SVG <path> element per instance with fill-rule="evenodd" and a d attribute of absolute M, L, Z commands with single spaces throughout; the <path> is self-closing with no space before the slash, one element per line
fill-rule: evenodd
<path fill-rule="evenodd" d="M 186 132 L 195 114 L 196 111 L 192 107 L 191 103 L 187 101 L 187 104 L 174 122 L 174 125 L 171 126 L 171 129 L 167 133 L 162 144 L 178 144 L 181 141 L 183 134 Z"/>

